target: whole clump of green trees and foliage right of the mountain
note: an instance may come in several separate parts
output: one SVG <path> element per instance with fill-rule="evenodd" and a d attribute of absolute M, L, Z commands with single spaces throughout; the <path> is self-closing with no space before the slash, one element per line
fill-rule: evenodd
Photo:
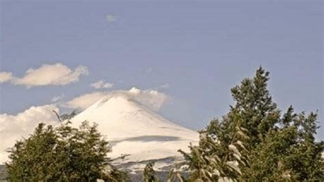
<path fill-rule="evenodd" d="M 317 116 L 281 116 L 262 67 L 232 88 L 235 105 L 200 131 L 198 146 L 183 153 L 190 181 L 323 181 L 323 142 L 316 142 Z"/>

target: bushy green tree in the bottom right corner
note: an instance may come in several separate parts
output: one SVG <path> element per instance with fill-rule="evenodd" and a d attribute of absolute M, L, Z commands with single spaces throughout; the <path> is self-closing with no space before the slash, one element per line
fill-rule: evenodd
<path fill-rule="evenodd" d="M 242 179 L 323 181 L 323 142 L 315 142 L 316 114 L 293 114 L 289 107 L 281 125 L 252 150 L 252 166 Z"/>

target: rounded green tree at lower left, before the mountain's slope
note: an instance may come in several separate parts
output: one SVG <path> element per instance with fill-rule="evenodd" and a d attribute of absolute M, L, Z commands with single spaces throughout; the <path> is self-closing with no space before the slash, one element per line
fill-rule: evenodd
<path fill-rule="evenodd" d="M 109 143 L 83 122 L 79 129 L 70 122 L 59 127 L 40 123 L 29 138 L 16 142 L 6 164 L 9 181 L 124 181 L 126 176 L 109 168 Z"/>

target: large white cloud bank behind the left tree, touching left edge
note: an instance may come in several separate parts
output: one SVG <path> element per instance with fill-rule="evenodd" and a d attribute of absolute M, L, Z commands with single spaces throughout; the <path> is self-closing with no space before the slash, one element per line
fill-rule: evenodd
<path fill-rule="evenodd" d="M 32 133 L 38 123 L 57 124 L 57 118 L 52 110 L 59 112 L 55 105 L 44 105 L 30 107 L 17 115 L 0 114 L 0 164 L 8 159 L 5 150 L 12 147 L 16 140 L 21 140 Z"/>

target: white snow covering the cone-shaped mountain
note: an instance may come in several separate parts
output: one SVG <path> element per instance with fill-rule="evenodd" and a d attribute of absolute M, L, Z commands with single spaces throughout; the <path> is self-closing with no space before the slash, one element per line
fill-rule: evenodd
<path fill-rule="evenodd" d="M 141 170 L 141 161 L 158 160 L 157 170 L 170 164 L 170 157 L 181 161 L 178 149 L 188 150 L 189 143 L 198 143 L 198 133 L 166 120 L 149 107 L 122 93 L 109 94 L 72 118 L 79 127 L 88 120 L 98 124 L 100 133 L 112 145 L 108 157 L 113 164 L 133 164 L 127 168 Z M 161 159 L 161 161 L 159 161 Z"/>

